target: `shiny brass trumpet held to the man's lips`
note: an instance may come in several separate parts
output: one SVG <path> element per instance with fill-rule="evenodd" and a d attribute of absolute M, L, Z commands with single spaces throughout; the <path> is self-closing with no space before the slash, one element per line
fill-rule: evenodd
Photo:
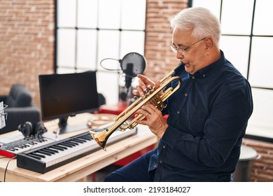
<path fill-rule="evenodd" d="M 179 64 L 181 66 L 181 64 Z M 104 151 L 106 151 L 106 142 L 107 139 L 115 132 L 117 129 L 120 131 L 125 131 L 127 129 L 132 130 L 134 127 L 136 127 L 138 124 L 135 123 L 136 120 L 143 120 L 146 118 L 146 116 L 139 114 L 135 116 L 130 122 L 127 122 L 128 119 L 130 119 L 134 113 L 136 113 L 139 109 L 141 109 L 142 106 L 146 104 L 153 104 L 157 109 L 162 111 L 166 108 L 167 104 L 165 104 L 165 101 L 172 95 L 176 90 L 179 89 L 181 86 L 181 78 L 179 76 L 173 76 L 176 69 L 179 68 L 179 66 L 176 66 L 175 69 L 170 71 L 164 78 L 160 80 L 160 87 L 158 89 L 155 89 L 155 87 L 148 86 L 148 90 L 144 90 L 145 94 L 141 97 L 138 97 L 130 106 L 125 109 L 122 113 L 118 115 L 115 122 L 107 127 L 106 129 L 102 130 L 101 132 L 93 132 L 89 131 L 92 135 L 94 141 L 101 146 Z M 172 81 L 178 80 L 178 84 L 176 87 L 167 87 Z"/>

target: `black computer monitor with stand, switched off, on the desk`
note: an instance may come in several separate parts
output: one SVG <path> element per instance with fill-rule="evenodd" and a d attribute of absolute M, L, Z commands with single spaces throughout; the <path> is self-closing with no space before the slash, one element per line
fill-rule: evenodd
<path fill-rule="evenodd" d="M 99 108 L 95 71 L 39 75 L 42 120 L 59 118 L 59 134 L 86 129 L 67 124 L 69 116 Z"/>

